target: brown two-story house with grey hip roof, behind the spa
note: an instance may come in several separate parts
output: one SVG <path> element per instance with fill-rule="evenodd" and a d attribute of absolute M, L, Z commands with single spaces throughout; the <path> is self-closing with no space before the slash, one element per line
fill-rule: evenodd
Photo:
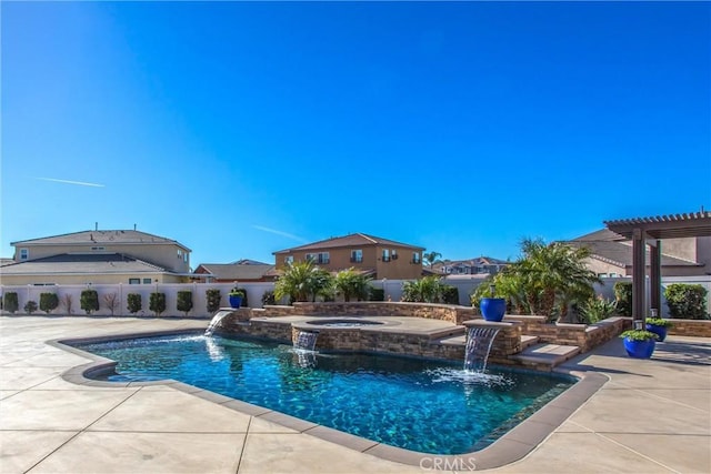
<path fill-rule="evenodd" d="M 277 271 L 312 261 L 330 272 L 353 268 L 373 279 L 413 280 L 422 275 L 424 248 L 363 233 L 331 238 L 273 252 Z"/>

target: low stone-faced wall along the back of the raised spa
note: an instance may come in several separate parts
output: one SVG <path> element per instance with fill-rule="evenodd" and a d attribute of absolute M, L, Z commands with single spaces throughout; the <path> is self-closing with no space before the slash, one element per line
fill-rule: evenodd
<path fill-rule="evenodd" d="M 461 324 L 474 317 L 474 309 L 451 304 L 359 301 L 350 303 L 294 303 L 293 314 L 333 316 L 409 316 Z"/>

